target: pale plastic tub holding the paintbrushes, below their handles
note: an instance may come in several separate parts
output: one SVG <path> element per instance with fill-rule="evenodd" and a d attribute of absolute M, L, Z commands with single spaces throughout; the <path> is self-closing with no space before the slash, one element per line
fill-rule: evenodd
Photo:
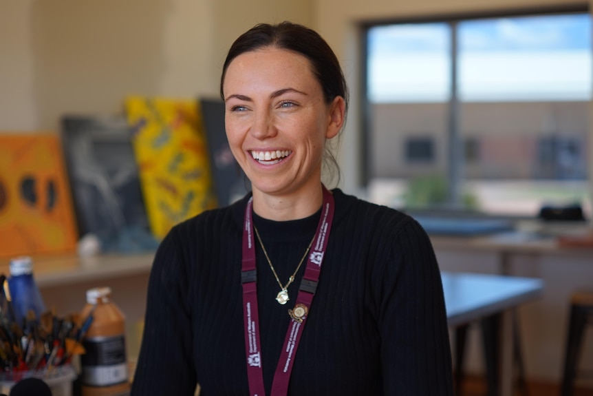
<path fill-rule="evenodd" d="M 52 396 L 72 396 L 72 381 L 76 378 L 76 371 L 72 366 L 65 365 L 52 368 L 51 371 L 0 373 L 0 393 L 10 395 L 14 384 L 29 377 L 43 379 L 43 382 L 52 390 Z"/>

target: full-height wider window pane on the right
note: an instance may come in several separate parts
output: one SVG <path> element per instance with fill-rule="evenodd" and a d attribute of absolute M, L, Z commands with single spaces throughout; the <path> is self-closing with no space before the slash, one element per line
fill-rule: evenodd
<path fill-rule="evenodd" d="M 465 187 L 491 213 L 587 211 L 588 14 L 459 23 Z"/>

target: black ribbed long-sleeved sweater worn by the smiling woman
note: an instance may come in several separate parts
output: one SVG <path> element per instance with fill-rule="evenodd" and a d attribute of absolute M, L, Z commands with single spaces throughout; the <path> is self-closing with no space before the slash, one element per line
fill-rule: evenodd
<path fill-rule="evenodd" d="M 453 395 L 438 264 L 409 216 L 333 191 L 336 213 L 290 377 L 289 395 Z M 241 238 L 248 197 L 173 227 L 156 253 L 132 395 L 248 395 Z M 283 284 L 316 231 L 254 216 Z M 290 301 L 256 243 L 263 379 L 272 378 L 305 264 Z"/>

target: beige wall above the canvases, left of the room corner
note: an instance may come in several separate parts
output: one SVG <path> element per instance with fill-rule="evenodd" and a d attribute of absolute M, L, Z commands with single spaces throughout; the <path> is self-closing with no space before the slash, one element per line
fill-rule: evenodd
<path fill-rule="evenodd" d="M 56 131 L 129 94 L 216 96 L 226 50 L 255 23 L 312 23 L 312 3 L 0 0 L 0 131 Z"/>

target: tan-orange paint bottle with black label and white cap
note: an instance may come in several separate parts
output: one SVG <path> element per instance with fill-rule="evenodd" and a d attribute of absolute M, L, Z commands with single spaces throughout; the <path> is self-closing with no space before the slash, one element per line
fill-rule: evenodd
<path fill-rule="evenodd" d="M 87 304 L 80 313 L 92 322 L 84 335 L 85 354 L 80 356 L 82 396 L 120 395 L 129 391 L 125 345 L 125 317 L 111 301 L 111 288 L 87 290 Z"/>

